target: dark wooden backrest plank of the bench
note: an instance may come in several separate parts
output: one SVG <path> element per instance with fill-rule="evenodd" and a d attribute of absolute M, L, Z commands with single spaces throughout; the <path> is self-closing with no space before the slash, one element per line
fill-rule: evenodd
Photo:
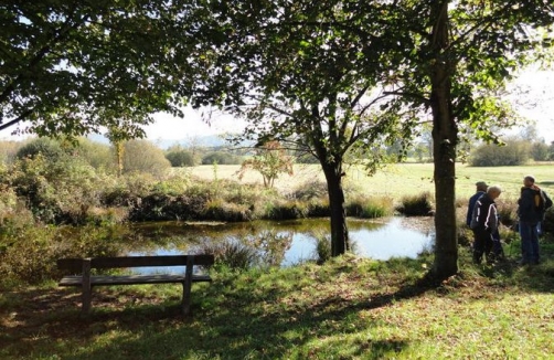
<path fill-rule="evenodd" d="M 150 266 L 185 266 L 188 257 L 194 256 L 194 265 L 210 266 L 214 263 L 213 255 L 160 255 L 160 256 L 115 256 L 93 257 L 90 268 L 115 267 L 150 267 Z M 57 268 L 71 272 L 83 271 L 83 258 L 60 258 Z"/>

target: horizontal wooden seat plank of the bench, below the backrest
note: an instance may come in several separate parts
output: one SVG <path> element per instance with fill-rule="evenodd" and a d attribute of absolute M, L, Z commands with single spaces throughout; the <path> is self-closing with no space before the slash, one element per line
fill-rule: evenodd
<path fill-rule="evenodd" d="M 192 282 L 211 282 L 210 275 L 193 275 Z M 132 284 L 167 284 L 167 283 L 184 283 L 184 275 L 95 275 L 90 276 L 90 285 L 132 285 Z M 83 276 L 70 275 L 64 276 L 58 286 L 81 286 Z"/>

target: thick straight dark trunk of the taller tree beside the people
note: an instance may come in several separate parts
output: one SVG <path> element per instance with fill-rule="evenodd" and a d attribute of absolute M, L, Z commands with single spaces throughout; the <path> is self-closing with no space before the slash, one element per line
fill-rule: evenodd
<path fill-rule="evenodd" d="M 449 55 L 448 2 L 436 1 L 432 12 L 433 62 L 430 65 L 433 109 L 433 155 L 436 198 L 436 247 L 434 275 L 446 278 L 458 272 L 458 239 L 456 229 L 456 144 L 458 127 L 452 115 L 451 75 L 454 62 Z"/>

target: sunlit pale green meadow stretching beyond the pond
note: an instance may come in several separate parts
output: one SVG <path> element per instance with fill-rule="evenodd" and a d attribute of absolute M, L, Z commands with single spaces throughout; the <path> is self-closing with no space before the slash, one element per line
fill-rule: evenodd
<path fill-rule="evenodd" d="M 219 179 L 237 179 L 239 166 L 217 166 Z M 200 166 L 188 169 L 191 174 L 202 179 L 214 179 L 213 166 Z M 537 163 L 521 167 L 473 168 L 459 163 L 457 166 L 456 195 L 466 199 L 475 192 L 477 181 L 499 184 L 503 189 L 503 198 L 518 199 L 522 179 L 533 174 L 540 187 L 554 194 L 554 163 Z M 319 165 L 296 165 L 295 174 L 283 174 L 276 180 L 278 189 L 287 190 L 300 187 L 318 179 L 324 181 Z M 263 183 L 262 176 L 248 171 L 243 179 L 245 182 Z M 373 177 L 366 176 L 362 168 L 349 168 L 344 179 L 345 188 L 363 189 L 363 192 L 374 195 L 398 198 L 406 194 L 417 194 L 423 191 L 435 192 L 433 183 L 433 163 L 398 163 L 387 166 Z"/>

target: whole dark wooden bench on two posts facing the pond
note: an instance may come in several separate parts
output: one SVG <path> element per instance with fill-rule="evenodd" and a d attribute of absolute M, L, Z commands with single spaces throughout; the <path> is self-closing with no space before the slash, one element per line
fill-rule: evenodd
<path fill-rule="evenodd" d="M 95 258 L 60 258 L 57 267 L 72 274 L 64 276 L 60 286 L 77 286 L 83 292 L 83 313 L 90 310 L 92 290 L 94 286 L 137 285 L 137 284 L 168 284 L 183 285 L 182 311 L 191 314 L 192 283 L 211 282 L 210 275 L 194 274 L 196 265 L 213 265 L 213 255 L 163 255 L 163 256 L 127 256 L 127 257 L 95 257 Z M 153 266 L 185 266 L 183 274 L 152 274 L 152 275 L 92 275 L 90 269 L 131 268 Z"/>

